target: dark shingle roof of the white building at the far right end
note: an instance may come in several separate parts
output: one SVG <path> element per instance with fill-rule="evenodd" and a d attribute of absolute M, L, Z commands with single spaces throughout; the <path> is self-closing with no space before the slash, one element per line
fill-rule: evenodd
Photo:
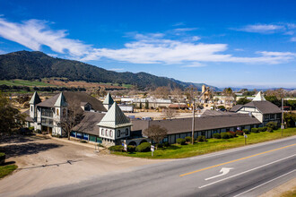
<path fill-rule="evenodd" d="M 281 109 L 269 101 L 252 101 L 245 104 L 244 107 L 257 107 L 263 114 L 281 113 Z"/>

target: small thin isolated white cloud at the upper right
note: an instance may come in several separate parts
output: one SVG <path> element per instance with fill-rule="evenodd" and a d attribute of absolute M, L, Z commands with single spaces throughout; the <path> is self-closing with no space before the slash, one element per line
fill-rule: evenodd
<path fill-rule="evenodd" d="M 257 24 L 257 25 L 247 25 L 241 29 L 241 31 L 254 32 L 254 33 L 274 33 L 276 30 L 284 30 L 282 25 L 273 24 Z"/>

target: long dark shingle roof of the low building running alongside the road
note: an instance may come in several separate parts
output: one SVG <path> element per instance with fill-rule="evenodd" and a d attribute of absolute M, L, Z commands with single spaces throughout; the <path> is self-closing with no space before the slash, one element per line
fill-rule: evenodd
<path fill-rule="evenodd" d="M 178 118 L 171 120 L 144 121 L 133 120 L 133 130 L 144 131 L 149 125 L 160 125 L 168 129 L 168 134 L 187 133 L 191 131 L 192 118 Z M 219 128 L 236 127 L 249 124 L 261 124 L 255 117 L 245 114 L 232 114 L 227 116 L 201 116 L 196 117 L 195 131 L 206 131 Z"/>

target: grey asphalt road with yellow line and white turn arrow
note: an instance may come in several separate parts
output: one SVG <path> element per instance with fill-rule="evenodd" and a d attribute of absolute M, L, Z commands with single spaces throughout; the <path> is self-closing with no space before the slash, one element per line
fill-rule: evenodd
<path fill-rule="evenodd" d="M 292 137 L 135 167 L 37 196 L 257 196 L 296 177 L 295 168 Z"/>

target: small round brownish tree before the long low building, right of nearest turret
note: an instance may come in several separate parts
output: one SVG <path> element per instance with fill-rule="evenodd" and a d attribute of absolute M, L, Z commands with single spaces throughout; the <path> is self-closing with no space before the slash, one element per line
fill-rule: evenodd
<path fill-rule="evenodd" d="M 160 125 L 151 125 L 143 134 L 159 144 L 168 135 L 168 130 Z"/>

